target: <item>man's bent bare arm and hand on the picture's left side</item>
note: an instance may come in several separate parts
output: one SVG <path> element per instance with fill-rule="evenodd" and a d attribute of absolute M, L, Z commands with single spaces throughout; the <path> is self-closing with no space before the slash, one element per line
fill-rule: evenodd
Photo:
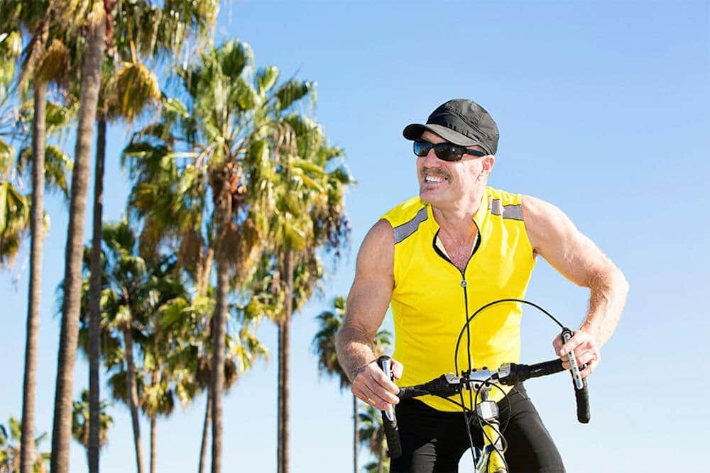
<path fill-rule="evenodd" d="M 399 389 L 373 363 L 371 348 L 390 304 L 394 260 L 394 234 L 390 223 L 378 221 L 368 232 L 357 257 L 355 279 L 347 311 L 338 333 L 338 361 L 352 382 L 353 394 L 377 408 L 396 404 Z M 399 377 L 401 365 L 395 365 Z"/>

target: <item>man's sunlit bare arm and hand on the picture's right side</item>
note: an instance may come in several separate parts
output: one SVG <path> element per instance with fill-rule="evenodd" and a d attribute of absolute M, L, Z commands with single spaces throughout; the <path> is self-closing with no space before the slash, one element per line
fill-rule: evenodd
<path fill-rule="evenodd" d="M 586 377 L 599 365 L 599 350 L 621 318 L 626 304 L 628 282 L 616 265 L 583 235 L 559 208 L 540 199 L 523 196 L 523 216 L 528 238 L 535 252 L 564 277 L 589 288 L 589 310 L 584 323 L 572 340 L 562 344 L 559 337 L 553 345 L 562 360 L 574 350 L 579 364 L 586 363 Z"/>

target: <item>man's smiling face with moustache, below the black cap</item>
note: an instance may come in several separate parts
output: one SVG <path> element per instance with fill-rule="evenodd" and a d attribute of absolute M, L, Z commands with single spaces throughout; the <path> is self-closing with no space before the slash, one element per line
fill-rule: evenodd
<path fill-rule="evenodd" d="M 421 139 L 435 144 L 446 142 L 430 131 L 422 133 Z M 470 148 L 484 151 L 476 145 Z M 426 156 L 417 157 L 420 199 L 427 204 L 446 208 L 467 196 L 475 197 L 476 191 L 486 186 L 494 161 L 491 155 L 477 157 L 468 154 L 460 161 L 444 161 L 437 157 L 432 148 Z"/>

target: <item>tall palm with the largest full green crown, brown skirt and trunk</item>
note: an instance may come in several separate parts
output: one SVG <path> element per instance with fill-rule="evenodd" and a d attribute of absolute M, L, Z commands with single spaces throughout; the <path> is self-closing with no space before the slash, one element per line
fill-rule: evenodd
<path fill-rule="evenodd" d="M 202 288 L 216 260 L 211 323 L 212 472 L 219 472 L 229 294 L 244 286 L 253 272 L 274 204 L 277 165 L 268 151 L 275 133 L 267 123 L 274 111 L 288 110 L 305 94 L 294 92 L 302 88 L 299 81 L 276 86 L 275 67 L 253 74 L 251 49 L 237 41 L 205 52 L 200 62 L 180 71 L 180 77 L 187 92 L 186 105 L 170 101 L 162 120 L 136 135 L 125 155 L 134 158 L 135 174 L 150 177 L 138 182 L 132 192 L 132 204 L 143 219 L 141 245 L 155 248 L 165 237 L 183 235 L 179 243 L 182 263 Z M 161 187 L 168 180 L 155 167 L 177 167 L 165 161 L 180 157 L 190 160 L 178 171 L 184 186 Z M 184 199 L 175 201 L 178 194 Z M 212 199 L 207 201 L 205 195 Z M 190 217 L 178 221 L 174 218 L 177 211 Z"/>

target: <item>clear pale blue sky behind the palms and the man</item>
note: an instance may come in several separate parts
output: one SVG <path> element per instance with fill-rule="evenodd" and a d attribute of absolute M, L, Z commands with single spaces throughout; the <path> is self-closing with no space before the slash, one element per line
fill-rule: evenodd
<path fill-rule="evenodd" d="M 317 376 L 314 317 L 333 296 L 346 294 L 368 228 L 417 192 L 403 126 L 425 120 L 454 97 L 478 101 L 498 122 L 491 184 L 557 204 L 631 284 L 621 324 L 591 378 L 589 425 L 576 421 L 569 377 L 528 383 L 569 472 L 699 471 L 706 465 L 710 384 L 701 368 L 710 317 L 701 298 L 710 289 L 708 1 L 245 0 L 222 7 L 217 33 L 251 44 L 257 65 L 318 82 L 317 119 L 331 143 L 346 150 L 359 181 L 347 198 L 350 255 L 329 275 L 325 298 L 293 323 L 293 472 L 350 468 L 351 399 L 336 382 Z M 120 218 L 125 206 L 126 176 L 117 166 L 125 137 L 122 128 L 109 135 L 107 219 Z M 48 199 L 48 212 L 37 429 L 49 432 L 67 206 Z M 90 212 L 87 238 L 89 221 Z M 21 413 L 27 250 L 0 273 L 2 423 Z M 537 263 L 528 299 L 576 326 L 586 297 L 586 290 Z M 275 330 L 264 324 L 259 335 L 275 353 Z M 526 311 L 523 362 L 551 357 L 554 335 L 552 324 Z M 275 470 L 275 380 L 274 357 L 226 397 L 224 471 Z M 87 384 L 80 357 L 75 392 Z M 111 413 L 116 424 L 102 471 L 131 471 L 129 412 L 116 404 Z M 158 471 L 197 469 L 203 413 L 204 397 L 159 421 Z M 148 423 L 142 428 L 147 455 Z M 85 471 L 77 443 L 71 460 L 72 472 Z M 467 465 L 464 458 L 461 471 Z"/>

